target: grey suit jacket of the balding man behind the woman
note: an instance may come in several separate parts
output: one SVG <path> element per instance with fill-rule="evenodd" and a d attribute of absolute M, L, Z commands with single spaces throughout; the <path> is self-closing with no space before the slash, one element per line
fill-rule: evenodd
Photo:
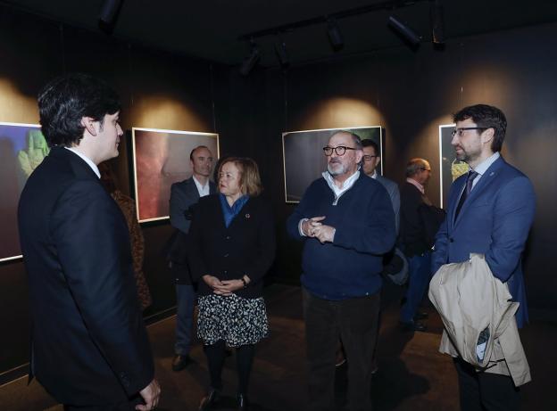
<path fill-rule="evenodd" d="M 209 181 L 209 193 L 217 191 L 217 186 Z M 199 201 L 199 191 L 194 177 L 174 183 L 170 187 L 170 225 L 176 228 L 170 238 L 169 259 L 172 274 L 177 284 L 192 284 L 187 267 L 187 232 L 193 218 L 195 204 Z"/>

